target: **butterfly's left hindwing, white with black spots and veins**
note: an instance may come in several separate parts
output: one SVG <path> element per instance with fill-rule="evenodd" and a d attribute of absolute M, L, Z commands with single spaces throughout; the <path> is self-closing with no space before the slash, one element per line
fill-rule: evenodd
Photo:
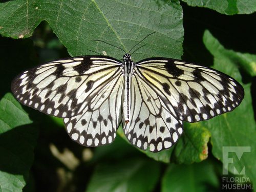
<path fill-rule="evenodd" d="M 112 143 L 122 119 L 122 93 L 123 77 L 118 74 L 97 92 L 81 115 L 64 119 L 70 137 L 84 146 Z"/>

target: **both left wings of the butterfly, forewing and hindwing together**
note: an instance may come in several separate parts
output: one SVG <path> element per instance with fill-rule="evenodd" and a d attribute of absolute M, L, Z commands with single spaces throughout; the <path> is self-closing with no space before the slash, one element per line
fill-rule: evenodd
<path fill-rule="evenodd" d="M 51 61 L 18 75 L 12 92 L 25 105 L 65 118 L 70 137 L 85 146 L 111 143 L 121 122 L 120 61 L 82 56 Z"/>

